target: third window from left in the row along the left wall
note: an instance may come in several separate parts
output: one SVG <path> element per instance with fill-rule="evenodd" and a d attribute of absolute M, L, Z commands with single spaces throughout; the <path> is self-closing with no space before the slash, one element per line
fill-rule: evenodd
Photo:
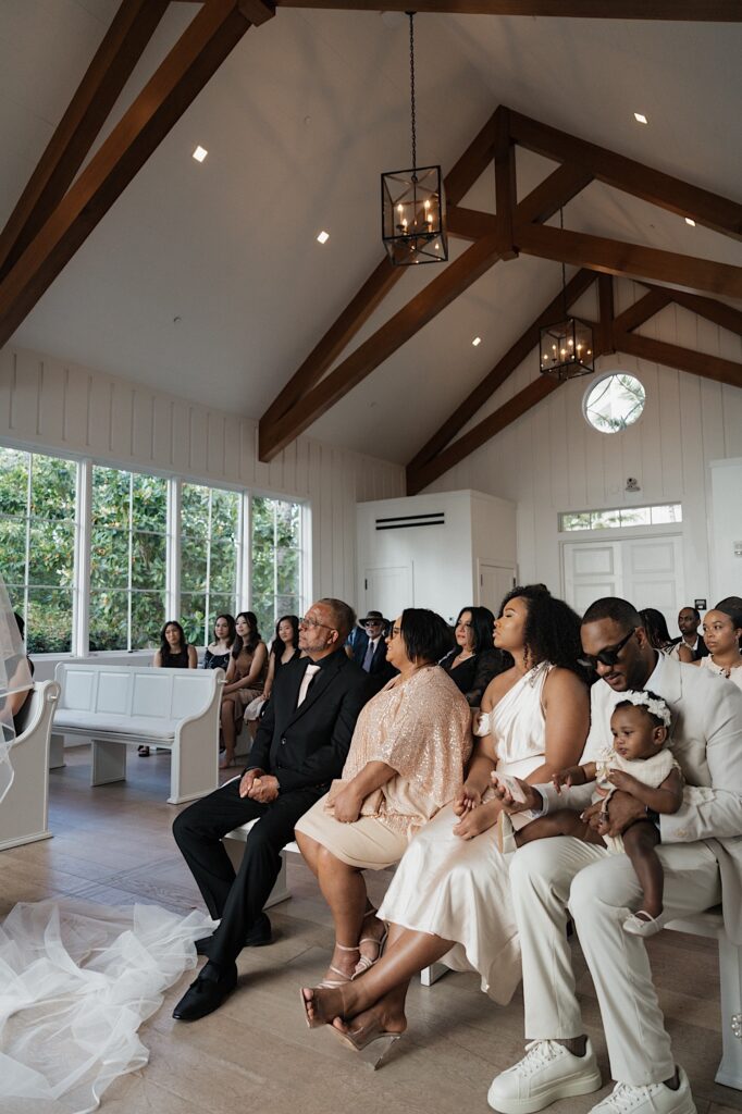
<path fill-rule="evenodd" d="M 242 496 L 184 483 L 180 496 L 180 622 L 188 642 L 206 646 L 214 619 L 234 615 Z"/>

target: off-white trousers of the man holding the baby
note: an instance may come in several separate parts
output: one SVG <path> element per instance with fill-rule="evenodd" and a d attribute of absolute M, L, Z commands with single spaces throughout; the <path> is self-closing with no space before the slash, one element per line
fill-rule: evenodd
<path fill-rule="evenodd" d="M 705 843 L 657 848 L 665 869 L 664 907 L 672 917 L 721 901 L 719 864 Z M 523 950 L 526 1037 L 580 1036 L 566 935 L 572 917 L 597 991 L 611 1074 L 640 1086 L 675 1072 L 652 970 L 641 937 L 623 921 L 642 905 L 642 890 L 625 854 L 572 837 L 527 843 L 510 864 L 510 887 Z"/>

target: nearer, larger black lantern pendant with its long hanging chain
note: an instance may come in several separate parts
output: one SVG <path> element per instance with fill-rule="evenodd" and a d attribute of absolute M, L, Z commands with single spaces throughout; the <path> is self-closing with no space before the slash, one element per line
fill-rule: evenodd
<path fill-rule="evenodd" d="M 414 128 L 414 12 L 410 18 L 412 168 L 381 175 L 381 235 L 394 266 L 448 260 L 440 166 L 417 165 Z"/>

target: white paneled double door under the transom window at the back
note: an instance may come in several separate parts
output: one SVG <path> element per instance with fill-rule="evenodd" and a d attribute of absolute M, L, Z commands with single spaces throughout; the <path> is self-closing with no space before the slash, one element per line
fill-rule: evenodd
<path fill-rule="evenodd" d="M 621 596 L 637 610 L 656 607 L 672 634 L 687 604 L 680 534 L 566 541 L 562 564 L 565 598 L 579 615 L 601 596 Z"/>

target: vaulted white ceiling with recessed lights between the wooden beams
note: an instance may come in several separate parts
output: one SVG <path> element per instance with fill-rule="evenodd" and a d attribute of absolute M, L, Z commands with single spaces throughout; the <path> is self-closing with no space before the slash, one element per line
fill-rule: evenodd
<path fill-rule="evenodd" d="M 0 0 L 0 222 L 116 8 Z M 109 126 L 196 10 L 170 4 Z M 419 16 L 416 39 L 421 164 L 448 170 L 505 104 L 742 197 L 740 23 Z M 408 65 L 403 16 L 280 9 L 244 37 L 13 340 L 260 417 L 382 257 L 379 174 L 410 162 Z M 519 153 L 519 194 L 550 168 Z M 494 172 L 465 204 L 494 211 Z M 599 184 L 564 221 L 742 265 L 739 243 Z M 451 242 L 452 257 L 463 247 Z M 353 346 L 437 273 L 404 275 Z M 556 263 L 498 264 L 310 432 L 409 460 L 559 283 Z"/>

